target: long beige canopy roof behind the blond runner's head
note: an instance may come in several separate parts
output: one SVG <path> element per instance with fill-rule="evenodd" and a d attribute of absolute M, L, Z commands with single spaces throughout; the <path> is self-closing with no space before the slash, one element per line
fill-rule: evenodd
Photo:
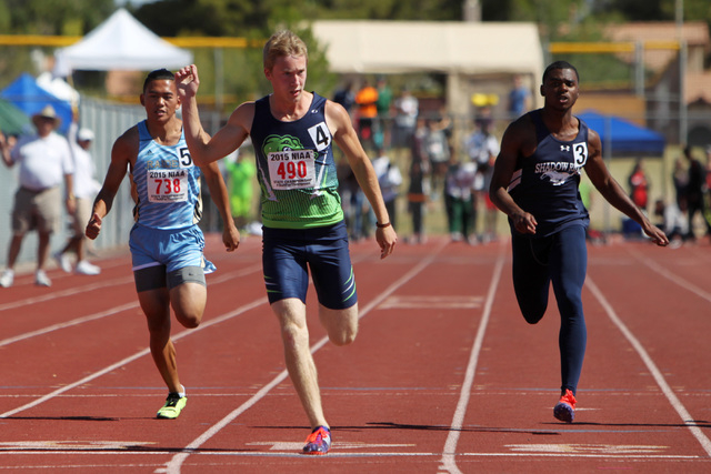
<path fill-rule="evenodd" d="M 344 20 L 312 29 L 339 73 L 543 72 L 534 23 Z"/>

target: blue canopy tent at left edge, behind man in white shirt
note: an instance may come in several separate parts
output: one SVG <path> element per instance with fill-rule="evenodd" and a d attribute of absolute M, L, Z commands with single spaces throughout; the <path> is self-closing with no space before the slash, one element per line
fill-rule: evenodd
<path fill-rule="evenodd" d="M 71 103 L 59 99 L 37 84 L 34 78 L 27 72 L 20 74 L 10 85 L 0 92 L 0 98 L 12 103 L 23 111 L 28 117 L 41 111 L 44 105 L 50 104 L 61 119 L 59 131 L 67 133 L 72 120 Z"/>

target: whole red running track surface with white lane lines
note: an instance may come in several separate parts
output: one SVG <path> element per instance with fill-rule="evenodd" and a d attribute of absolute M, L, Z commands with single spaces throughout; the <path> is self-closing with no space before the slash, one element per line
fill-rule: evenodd
<path fill-rule="evenodd" d="M 100 276 L 50 272 L 0 291 L 0 471 L 61 473 L 711 472 L 711 246 L 591 246 L 575 423 L 559 396 L 559 315 L 520 316 L 509 244 L 431 239 L 384 260 L 351 245 L 359 336 L 309 323 L 334 444 L 308 423 L 266 302 L 261 241 L 208 236 L 218 272 L 197 330 L 173 326 L 188 406 L 156 420 L 153 367 L 127 254 Z"/>

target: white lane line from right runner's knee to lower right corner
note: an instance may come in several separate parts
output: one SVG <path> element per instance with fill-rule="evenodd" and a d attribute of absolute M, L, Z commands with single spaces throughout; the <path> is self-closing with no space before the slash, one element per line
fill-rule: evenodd
<path fill-rule="evenodd" d="M 642 345 L 642 343 L 639 342 L 639 340 L 634 336 L 634 334 L 632 334 L 632 332 L 627 327 L 627 325 L 622 322 L 622 320 L 618 317 L 617 313 L 612 309 L 612 305 L 610 305 L 608 300 L 604 297 L 604 295 L 602 294 L 598 285 L 594 284 L 594 282 L 590 276 L 588 276 L 588 279 L 585 280 L 585 286 L 590 289 L 590 291 L 598 299 L 602 307 L 604 307 L 604 311 L 608 313 L 608 316 L 610 317 L 610 320 L 614 323 L 614 325 L 618 326 L 620 332 L 624 335 L 624 337 L 632 345 L 632 347 L 634 347 L 640 359 L 642 359 L 642 362 L 644 362 L 644 365 L 647 365 L 647 369 L 654 377 L 657 385 L 659 385 L 664 396 L 667 396 L 667 400 L 669 401 L 671 406 L 673 406 L 673 409 L 677 411 L 677 413 L 681 417 L 681 421 L 684 423 L 684 425 L 687 425 L 691 434 L 701 444 L 701 447 L 703 447 L 703 451 L 705 451 L 707 455 L 711 456 L 711 441 L 703 434 L 699 425 L 693 421 L 691 414 L 687 411 L 684 405 L 677 397 L 672 389 L 667 383 L 664 375 L 662 375 L 661 371 L 657 367 L 657 364 L 654 364 L 654 361 L 652 361 L 652 357 L 650 357 L 650 355 L 644 350 L 644 346 Z"/>

